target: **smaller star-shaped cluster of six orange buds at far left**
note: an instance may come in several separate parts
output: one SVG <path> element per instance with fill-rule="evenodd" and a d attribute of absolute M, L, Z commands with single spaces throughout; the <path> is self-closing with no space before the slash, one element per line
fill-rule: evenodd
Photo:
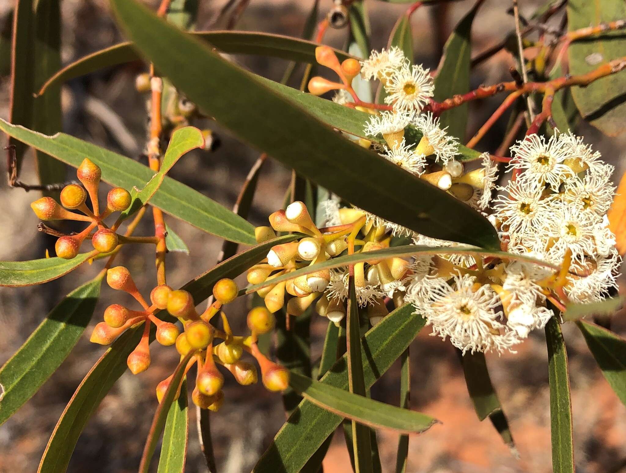
<path fill-rule="evenodd" d="M 78 180 L 83 184 L 69 184 L 61 190 L 61 205 L 51 197 L 42 197 L 33 203 L 31 208 L 41 220 L 77 220 L 85 221 L 89 225 L 85 230 L 76 235 L 62 235 L 56 240 L 54 249 L 56 255 L 66 260 L 71 260 L 78 255 L 80 247 L 85 240 L 91 240 L 94 255 L 97 253 L 110 253 L 123 243 L 140 242 L 116 233 L 116 228 L 121 221 L 116 222 L 109 228 L 104 220 L 115 212 L 124 211 L 131 204 L 130 193 L 116 187 L 109 191 L 106 197 L 106 208 L 102 210 L 98 203 L 98 188 L 100 187 L 101 170 L 93 162 L 85 158 L 76 170 Z M 86 205 L 87 196 L 91 200 L 91 208 Z M 70 210 L 78 210 L 81 213 Z M 91 233 L 92 230 L 96 230 Z M 56 232 L 54 232 L 56 234 Z"/>

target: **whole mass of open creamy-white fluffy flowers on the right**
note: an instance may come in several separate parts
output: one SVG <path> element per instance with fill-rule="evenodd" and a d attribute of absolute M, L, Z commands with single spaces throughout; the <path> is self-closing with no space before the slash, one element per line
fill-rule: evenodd
<path fill-rule="evenodd" d="M 616 285 L 620 257 L 606 216 L 615 190 L 610 181 L 613 167 L 602 162 L 600 153 L 572 133 L 549 140 L 526 136 L 511 147 L 508 170 L 513 177 L 498 189 L 501 195 L 490 208 L 498 165 L 488 153 L 480 156 L 481 167 L 473 171 L 465 171 L 455 160 L 458 141 L 433 114 L 423 111 L 433 96 L 428 69 L 409 65 L 398 48 L 391 48 L 372 52 L 361 71 L 363 78 L 381 81 L 385 101 L 393 105 L 393 111 L 372 116 L 364 130 L 382 157 L 483 212 L 508 252 L 565 267 L 566 281 L 559 290 L 567 300 L 584 303 L 607 297 Z M 413 133 L 405 134 L 409 128 Z M 421 136 L 417 143 L 408 139 L 414 131 Z M 428 247 L 459 246 L 418 235 L 358 208 L 340 207 L 337 200 L 322 203 L 328 225 L 366 215 L 367 231 L 408 236 Z M 403 291 L 404 301 L 432 326 L 432 335 L 449 338 L 463 353 L 512 350 L 554 315 L 547 299 L 555 296 L 551 291 L 558 272 L 527 259 L 476 253 L 421 256 L 386 285 L 374 270 L 366 266 L 368 276 L 357 287 L 360 305 Z M 326 296 L 346 299 L 346 272 L 331 275 Z"/>

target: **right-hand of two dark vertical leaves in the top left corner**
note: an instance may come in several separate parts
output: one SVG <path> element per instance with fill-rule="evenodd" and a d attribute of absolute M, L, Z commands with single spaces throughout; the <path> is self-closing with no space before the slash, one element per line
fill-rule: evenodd
<path fill-rule="evenodd" d="M 59 0 L 38 0 L 34 3 L 35 34 L 33 38 L 35 64 L 31 97 L 43 82 L 61 67 L 61 11 Z M 45 97 L 33 100 L 33 130 L 52 135 L 61 131 L 61 87 L 48 91 Z M 16 104 L 21 106 L 21 103 Z M 16 123 L 16 122 L 13 122 Z M 26 125 L 24 123 L 23 125 Z M 66 167 L 51 156 L 36 152 L 39 183 L 61 183 Z M 44 195 L 51 193 L 44 192 Z"/>

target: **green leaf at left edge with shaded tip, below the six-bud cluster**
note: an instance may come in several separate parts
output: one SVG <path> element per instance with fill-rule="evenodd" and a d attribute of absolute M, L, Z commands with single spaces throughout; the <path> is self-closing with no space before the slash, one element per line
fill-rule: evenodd
<path fill-rule="evenodd" d="M 70 292 L 0 369 L 3 424 L 56 371 L 91 320 L 104 274 Z"/>

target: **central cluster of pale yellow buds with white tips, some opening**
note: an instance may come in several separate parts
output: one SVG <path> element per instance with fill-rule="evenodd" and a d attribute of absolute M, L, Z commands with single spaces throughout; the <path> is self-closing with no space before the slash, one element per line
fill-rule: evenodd
<path fill-rule="evenodd" d="M 273 278 L 338 257 L 344 252 L 364 253 L 389 247 L 391 235 L 371 221 L 366 222 L 364 211 L 344 208 L 339 214 L 339 225 L 317 228 L 304 203 L 295 201 L 285 210 L 270 215 L 271 228 L 257 227 L 259 242 L 273 238 L 274 230 L 307 235 L 294 242 L 275 245 L 265 260 L 248 271 L 249 283 L 269 283 L 257 291 L 264 298 L 269 312 L 274 313 L 285 307 L 287 315 L 298 316 L 315 303 L 317 313 L 332 322 L 339 323 L 345 317 L 348 295 L 346 270 L 318 270 L 270 283 Z M 359 231 L 364 235 L 362 238 L 356 238 Z M 409 262 L 396 257 L 372 258 L 354 265 L 357 302 L 366 307 L 372 325 L 387 315 L 385 299 L 403 290 L 401 281 L 408 268 Z"/>

